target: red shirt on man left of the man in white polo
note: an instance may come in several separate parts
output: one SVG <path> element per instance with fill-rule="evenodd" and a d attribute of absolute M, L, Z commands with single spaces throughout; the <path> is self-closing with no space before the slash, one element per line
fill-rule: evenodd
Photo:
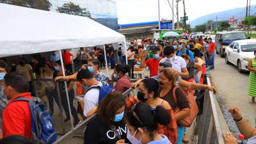
<path fill-rule="evenodd" d="M 149 67 L 150 69 L 150 76 L 149 77 L 153 77 L 153 76 L 157 76 L 158 74 L 158 66 L 159 66 L 159 62 L 160 60 L 162 60 L 163 58 L 160 57 L 159 59 L 154 59 L 154 58 L 150 58 L 148 59 L 145 64 Z"/>

